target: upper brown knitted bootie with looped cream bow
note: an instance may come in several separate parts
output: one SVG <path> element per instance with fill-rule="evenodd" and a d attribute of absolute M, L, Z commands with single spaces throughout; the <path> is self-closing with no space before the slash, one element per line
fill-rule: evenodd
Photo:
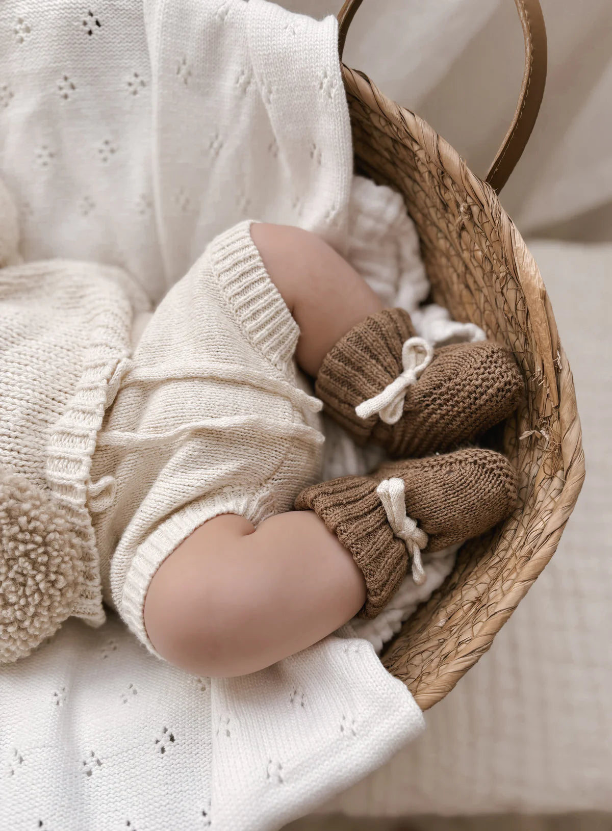
<path fill-rule="evenodd" d="M 316 395 L 358 445 L 426 456 L 473 440 L 516 410 L 524 386 L 511 352 L 491 341 L 432 349 L 415 336 L 407 312 L 384 309 L 323 359 Z"/>

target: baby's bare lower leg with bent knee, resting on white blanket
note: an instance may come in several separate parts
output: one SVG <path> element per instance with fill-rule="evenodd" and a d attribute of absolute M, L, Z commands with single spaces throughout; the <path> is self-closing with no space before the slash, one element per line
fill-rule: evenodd
<path fill-rule="evenodd" d="M 363 606 L 363 574 L 312 511 L 210 519 L 166 558 L 146 595 L 157 652 L 199 676 L 270 666 L 334 632 Z"/>

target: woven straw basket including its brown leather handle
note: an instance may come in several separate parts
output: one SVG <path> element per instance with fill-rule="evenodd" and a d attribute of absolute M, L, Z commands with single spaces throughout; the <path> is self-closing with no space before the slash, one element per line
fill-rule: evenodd
<path fill-rule="evenodd" d="M 338 14 L 342 57 L 362 0 Z M 515 118 L 486 181 L 424 120 L 362 72 L 342 67 L 358 173 L 402 193 L 417 225 L 435 302 L 511 347 L 526 400 L 494 436 L 520 475 L 519 504 L 501 527 L 466 543 L 429 602 L 404 623 L 381 660 L 423 710 L 447 695 L 491 642 L 548 563 L 585 477 L 574 382 L 544 283 L 499 193 L 531 134 L 546 72 L 536 0 L 515 0 L 526 71 Z"/>

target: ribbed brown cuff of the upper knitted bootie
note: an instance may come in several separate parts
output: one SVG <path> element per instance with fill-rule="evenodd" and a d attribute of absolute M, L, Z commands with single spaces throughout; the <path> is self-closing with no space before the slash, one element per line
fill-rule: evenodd
<path fill-rule="evenodd" d="M 358 445 L 368 441 L 379 417 L 362 418 L 355 408 L 402 373 L 402 347 L 415 335 L 408 312 L 383 309 L 354 326 L 323 359 L 315 394 Z"/>

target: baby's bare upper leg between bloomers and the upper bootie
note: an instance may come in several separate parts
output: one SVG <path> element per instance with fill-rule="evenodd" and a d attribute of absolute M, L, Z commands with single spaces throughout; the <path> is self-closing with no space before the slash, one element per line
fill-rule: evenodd
<path fill-rule="evenodd" d="M 355 269 L 317 234 L 289 225 L 254 223 L 251 237 L 299 325 L 296 361 L 308 375 L 317 376 L 333 345 L 384 305 Z"/>

